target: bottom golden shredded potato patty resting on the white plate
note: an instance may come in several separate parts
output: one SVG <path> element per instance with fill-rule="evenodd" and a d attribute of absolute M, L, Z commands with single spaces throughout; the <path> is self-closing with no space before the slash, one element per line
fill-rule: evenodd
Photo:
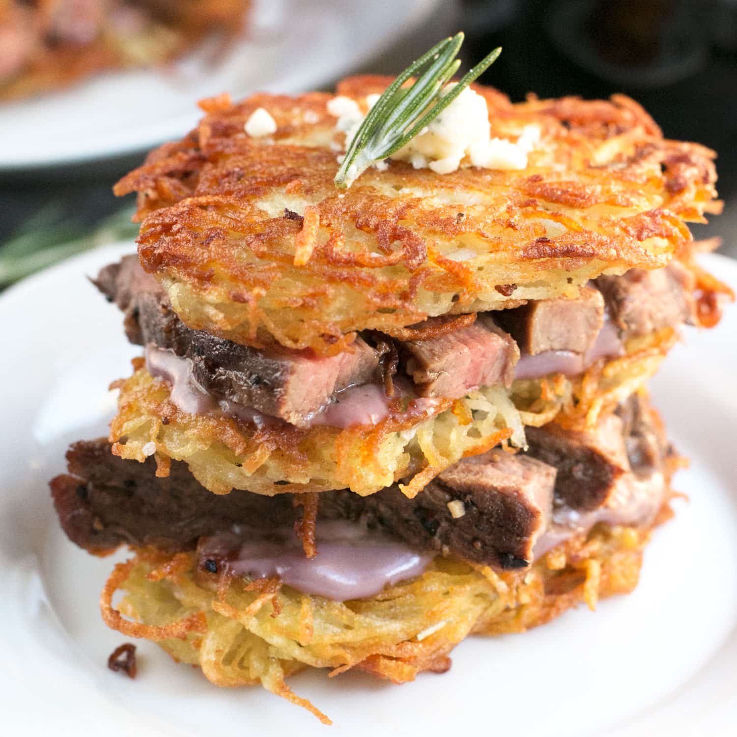
<path fill-rule="evenodd" d="M 275 579 L 218 581 L 196 570 L 195 553 L 146 550 L 116 566 L 102 615 L 125 635 L 200 666 L 216 685 L 261 683 L 329 723 L 285 677 L 303 668 L 331 668 L 332 675 L 359 668 L 403 683 L 420 671 L 447 671 L 448 654 L 467 635 L 524 632 L 581 601 L 593 609 L 598 598 L 631 592 L 649 537 L 648 530 L 602 524 L 528 570 L 500 574 L 439 557 L 422 576 L 346 602 Z M 119 609 L 116 590 L 126 593 Z"/>

